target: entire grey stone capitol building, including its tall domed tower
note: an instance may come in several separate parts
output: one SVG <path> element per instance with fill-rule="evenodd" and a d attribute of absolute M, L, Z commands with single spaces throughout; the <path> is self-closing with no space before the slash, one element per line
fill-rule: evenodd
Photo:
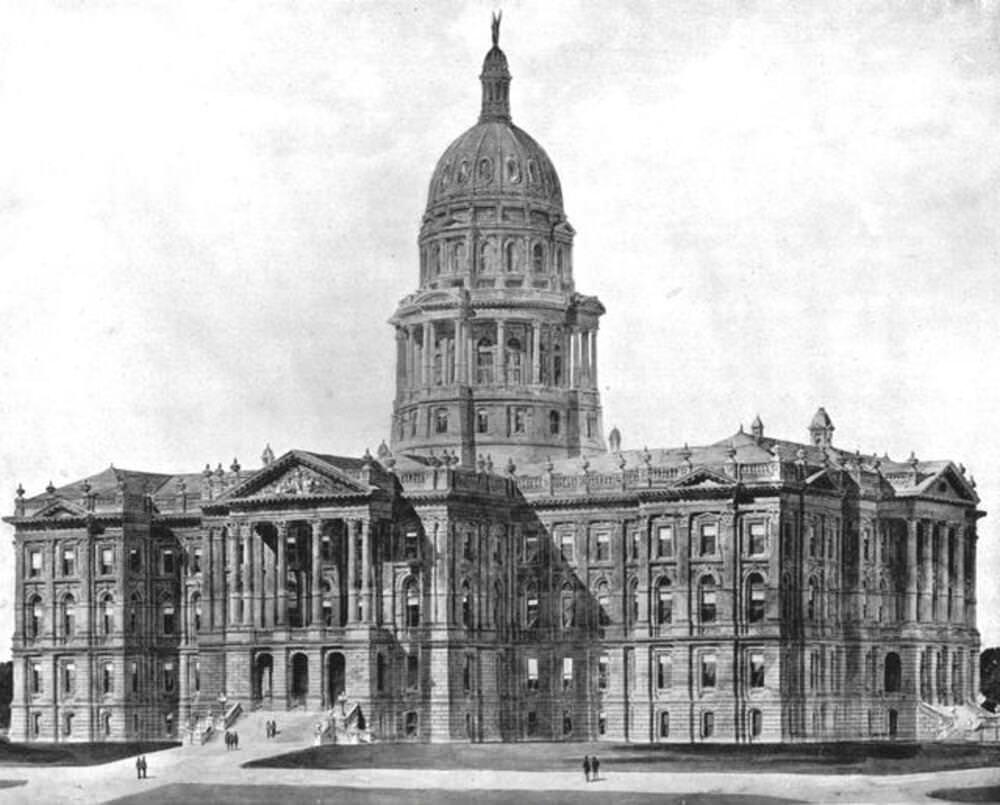
<path fill-rule="evenodd" d="M 801 442 L 605 443 L 604 308 L 496 38 L 391 319 L 391 446 L 19 490 L 14 740 L 234 702 L 383 741 L 915 738 L 973 699 L 961 465 L 840 450 L 823 409 Z"/>

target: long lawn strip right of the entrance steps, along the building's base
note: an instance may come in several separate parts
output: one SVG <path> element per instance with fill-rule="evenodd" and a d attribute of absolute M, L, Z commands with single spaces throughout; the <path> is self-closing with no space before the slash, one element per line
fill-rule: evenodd
<path fill-rule="evenodd" d="M 979 744 L 369 744 L 317 746 L 251 761 L 278 769 L 488 769 L 576 771 L 598 755 L 602 773 L 779 772 L 908 774 L 1000 766 L 1000 747 Z"/>

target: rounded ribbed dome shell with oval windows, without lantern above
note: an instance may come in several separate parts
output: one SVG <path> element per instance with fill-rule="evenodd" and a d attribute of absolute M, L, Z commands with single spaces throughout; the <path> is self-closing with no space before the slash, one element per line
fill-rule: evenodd
<path fill-rule="evenodd" d="M 428 211 L 438 204 L 512 198 L 562 212 L 562 188 L 548 154 L 513 123 L 477 123 L 438 160 L 427 193 Z"/>

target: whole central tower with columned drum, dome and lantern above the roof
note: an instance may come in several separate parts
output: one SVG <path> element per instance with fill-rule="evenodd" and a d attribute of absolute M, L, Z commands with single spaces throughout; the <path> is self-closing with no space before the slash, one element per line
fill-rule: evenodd
<path fill-rule="evenodd" d="M 479 122 L 431 178 L 420 290 L 391 320 L 393 449 L 448 450 L 467 466 L 481 454 L 521 463 L 603 452 L 604 306 L 575 291 L 559 177 L 511 123 L 510 73 L 495 40 L 480 80 Z"/>

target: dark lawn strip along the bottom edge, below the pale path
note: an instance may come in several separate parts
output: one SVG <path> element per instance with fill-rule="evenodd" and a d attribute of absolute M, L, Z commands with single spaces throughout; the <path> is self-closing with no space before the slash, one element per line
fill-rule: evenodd
<path fill-rule="evenodd" d="M 639 794 L 623 791 L 448 791 L 424 788 L 340 788 L 296 785 L 199 785 L 173 783 L 112 800 L 116 805 L 791 805 L 797 800 L 749 794 Z"/>

